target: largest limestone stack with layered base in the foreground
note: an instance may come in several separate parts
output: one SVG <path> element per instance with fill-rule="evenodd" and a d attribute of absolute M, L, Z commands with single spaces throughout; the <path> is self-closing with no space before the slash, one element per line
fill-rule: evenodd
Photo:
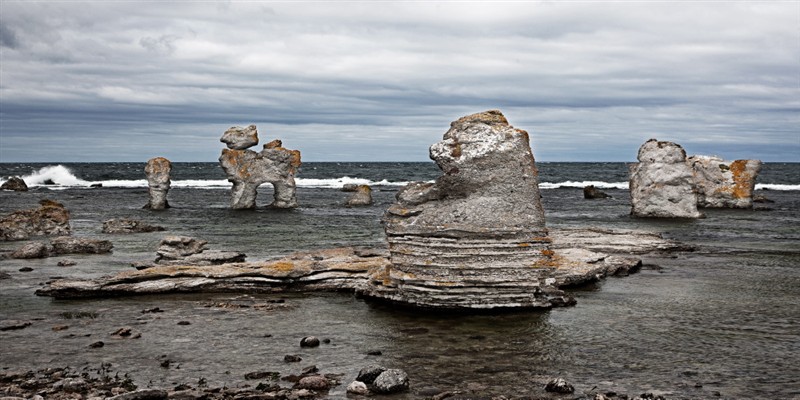
<path fill-rule="evenodd" d="M 528 133 L 500 111 L 450 124 L 430 148 L 443 175 L 384 215 L 391 265 L 373 291 L 428 308 L 548 307 L 553 252 Z"/>

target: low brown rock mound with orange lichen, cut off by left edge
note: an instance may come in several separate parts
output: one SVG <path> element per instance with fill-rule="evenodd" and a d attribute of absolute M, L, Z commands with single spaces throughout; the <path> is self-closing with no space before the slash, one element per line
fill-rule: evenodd
<path fill-rule="evenodd" d="M 64 205 L 51 200 L 42 200 L 39 204 L 39 208 L 14 211 L 0 219 L 0 240 L 69 235 L 69 211 Z"/>

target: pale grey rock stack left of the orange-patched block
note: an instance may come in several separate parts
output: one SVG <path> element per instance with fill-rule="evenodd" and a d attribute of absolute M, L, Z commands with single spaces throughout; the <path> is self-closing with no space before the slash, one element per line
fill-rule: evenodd
<path fill-rule="evenodd" d="M 679 144 L 650 139 L 630 167 L 631 214 L 637 217 L 700 218 L 692 169 Z"/>

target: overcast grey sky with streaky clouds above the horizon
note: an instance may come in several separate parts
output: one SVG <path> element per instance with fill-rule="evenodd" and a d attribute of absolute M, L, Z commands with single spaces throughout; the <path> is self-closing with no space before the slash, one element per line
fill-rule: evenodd
<path fill-rule="evenodd" d="M 800 2 L 0 0 L 0 162 L 426 161 L 490 109 L 537 161 L 798 162 Z"/>

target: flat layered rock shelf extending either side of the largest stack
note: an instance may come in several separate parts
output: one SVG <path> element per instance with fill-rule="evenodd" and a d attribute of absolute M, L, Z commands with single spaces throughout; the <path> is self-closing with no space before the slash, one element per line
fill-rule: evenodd
<path fill-rule="evenodd" d="M 557 267 L 543 279 L 541 290 L 552 293 L 557 293 L 560 287 L 635 272 L 641 265 L 636 254 L 687 250 L 681 243 L 647 232 L 570 229 L 554 230 L 551 238 Z M 270 261 L 212 266 L 189 262 L 155 264 L 148 269 L 97 279 L 53 280 L 36 294 L 67 299 L 183 292 L 326 290 L 373 296 L 376 289 L 390 290 L 384 285 L 390 269 L 387 250 L 347 247 L 298 252 Z M 541 306 L 573 303 L 563 293 L 559 298 L 561 302 L 541 303 Z"/>

